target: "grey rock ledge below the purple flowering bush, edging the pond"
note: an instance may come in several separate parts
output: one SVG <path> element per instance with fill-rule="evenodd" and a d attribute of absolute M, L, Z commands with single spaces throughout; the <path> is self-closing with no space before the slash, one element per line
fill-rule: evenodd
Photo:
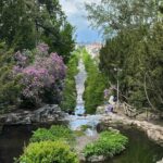
<path fill-rule="evenodd" d="M 49 123 L 57 122 L 64 117 L 63 112 L 57 104 L 47 104 L 36 111 L 20 110 L 14 113 L 9 113 L 0 116 L 1 124 L 33 124 L 33 123 Z"/>

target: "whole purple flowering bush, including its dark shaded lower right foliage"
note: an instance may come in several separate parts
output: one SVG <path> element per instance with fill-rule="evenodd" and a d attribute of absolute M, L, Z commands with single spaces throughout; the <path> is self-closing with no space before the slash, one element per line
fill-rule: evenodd
<path fill-rule="evenodd" d="M 13 74 L 22 75 L 20 80 L 23 86 L 22 96 L 37 105 L 48 102 L 48 98 L 51 102 L 60 99 L 66 73 L 62 57 L 57 53 L 49 54 L 48 50 L 47 45 L 39 45 L 35 51 L 34 63 L 28 65 L 26 64 L 28 58 L 24 53 L 15 53 L 17 65 L 14 66 Z"/>

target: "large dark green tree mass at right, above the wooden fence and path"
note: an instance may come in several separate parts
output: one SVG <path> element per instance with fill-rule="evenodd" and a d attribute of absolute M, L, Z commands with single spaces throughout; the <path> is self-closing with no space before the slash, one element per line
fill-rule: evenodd
<path fill-rule="evenodd" d="M 100 51 L 100 70 L 112 84 L 118 77 L 121 95 L 127 98 L 121 96 L 121 99 L 138 109 L 163 108 L 162 34 L 162 23 L 152 28 L 125 29 L 108 40 Z M 121 72 L 117 74 L 114 68 Z"/>

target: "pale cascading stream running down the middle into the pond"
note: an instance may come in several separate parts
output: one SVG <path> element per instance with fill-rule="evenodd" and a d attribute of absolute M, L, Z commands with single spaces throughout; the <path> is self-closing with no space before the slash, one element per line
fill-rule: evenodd
<path fill-rule="evenodd" d="M 75 115 L 70 115 L 70 127 L 73 130 L 79 129 L 83 125 L 88 125 L 90 128 L 86 130 L 86 134 L 89 136 L 93 136 L 97 134 L 96 126 L 100 121 L 100 115 L 85 115 L 85 101 L 83 99 L 83 95 L 85 91 L 85 82 L 87 79 L 87 72 L 85 70 L 85 65 L 83 60 L 79 60 L 78 63 L 78 74 L 75 76 L 76 80 L 76 90 L 77 90 L 77 99 L 76 99 L 76 108 Z"/>

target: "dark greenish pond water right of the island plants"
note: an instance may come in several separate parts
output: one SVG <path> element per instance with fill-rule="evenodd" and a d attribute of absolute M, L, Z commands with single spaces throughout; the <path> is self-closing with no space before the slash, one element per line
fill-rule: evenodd
<path fill-rule="evenodd" d="M 118 128 L 129 138 L 129 145 L 123 154 L 105 163 L 155 163 L 163 158 L 163 147 L 158 146 L 136 128 Z"/>

